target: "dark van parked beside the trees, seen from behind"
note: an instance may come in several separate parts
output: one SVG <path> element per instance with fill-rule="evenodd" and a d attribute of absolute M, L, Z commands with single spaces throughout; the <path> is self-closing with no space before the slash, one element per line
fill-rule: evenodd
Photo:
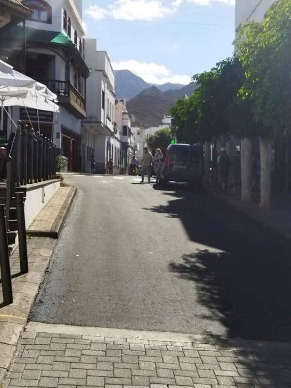
<path fill-rule="evenodd" d="M 203 150 L 190 144 L 168 146 L 162 167 L 162 183 L 185 182 L 201 187 L 204 176 Z"/>

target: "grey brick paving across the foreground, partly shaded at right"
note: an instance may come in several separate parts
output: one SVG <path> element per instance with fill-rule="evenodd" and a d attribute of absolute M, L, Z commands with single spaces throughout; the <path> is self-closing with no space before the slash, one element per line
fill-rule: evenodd
<path fill-rule="evenodd" d="M 30 323 L 4 388 L 291 387 L 288 343 L 91 329 Z"/>

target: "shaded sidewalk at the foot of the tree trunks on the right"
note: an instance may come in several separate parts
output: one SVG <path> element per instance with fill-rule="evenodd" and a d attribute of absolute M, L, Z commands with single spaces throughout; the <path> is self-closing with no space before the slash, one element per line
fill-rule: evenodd
<path fill-rule="evenodd" d="M 238 195 L 215 195 L 275 232 L 278 238 L 288 239 L 286 241 L 291 242 L 291 195 L 272 194 L 272 205 L 269 210 L 259 208 L 259 198 L 254 202 L 242 202 Z"/>

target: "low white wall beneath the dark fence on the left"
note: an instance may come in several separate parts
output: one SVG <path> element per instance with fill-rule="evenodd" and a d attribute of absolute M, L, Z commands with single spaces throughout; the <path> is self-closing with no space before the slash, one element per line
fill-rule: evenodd
<path fill-rule="evenodd" d="M 27 188 L 24 203 L 26 228 L 32 224 L 34 218 L 59 190 L 60 184 L 60 180 L 52 180 L 25 186 Z"/>

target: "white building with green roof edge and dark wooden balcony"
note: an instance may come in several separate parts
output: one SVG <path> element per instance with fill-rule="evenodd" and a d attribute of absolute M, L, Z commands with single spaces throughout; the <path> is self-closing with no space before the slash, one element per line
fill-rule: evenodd
<path fill-rule="evenodd" d="M 86 78 L 90 70 L 84 61 L 85 34 L 82 24 L 82 0 L 22 0 L 34 10 L 26 21 L 26 48 L 23 49 L 23 27 L 10 32 L 11 50 L 23 54 L 18 69 L 45 83 L 58 95 L 60 113 L 39 112 L 40 132 L 53 140 L 69 161 L 69 171 L 81 170 L 81 120 L 86 117 Z M 18 70 L 17 69 L 17 70 Z M 34 129 L 37 114 L 30 117 L 22 108 L 13 108 L 13 118 L 20 118 Z"/>

